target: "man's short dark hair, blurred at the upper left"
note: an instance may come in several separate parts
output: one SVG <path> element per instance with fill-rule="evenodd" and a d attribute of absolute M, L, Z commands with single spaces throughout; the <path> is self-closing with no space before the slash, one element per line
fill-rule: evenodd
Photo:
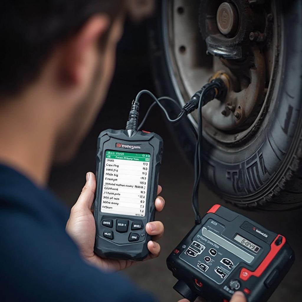
<path fill-rule="evenodd" d="M 97 13 L 114 19 L 122 0 L 2 0 L 0 97 L 14 95 L 39 75 L 53 48 Z"/>

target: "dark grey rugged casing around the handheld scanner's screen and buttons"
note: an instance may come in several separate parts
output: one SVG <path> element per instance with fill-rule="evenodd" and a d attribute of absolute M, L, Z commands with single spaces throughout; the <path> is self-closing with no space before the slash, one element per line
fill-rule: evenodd
<path fill-rule="evenodd" d="M 116 143 L 140 145 L 140 149 L 129 149 L 123 147 L 116 147 Z M 103 168 L 104 168 L 104 154 L 106 150 L 115 150 L 119 152 L 135 152 L 135 153 L 149 153 L 150 165 L 148 186 L 146 195 L 146 211 L 145 217 L 125 216 L 120 214 L 109 214 L 101 212 L 101 196 L 103 184 Z M 96 223 L 95 236 L 95 253 L 103 258 L 111 259 L 130 259 L 143 260 L 149 254 L 147 243 L 151 239 L 145 231 L 145 228 L 139 233 L 140 239 L 137 242 L 127 242 L 128 236 L 131 233 L 131 228 L 128 227 L 127 233 L 114 233 L 114 240 L 104 238 L 102 236 L 104 230 L 108 228 L 101 225 L 103 219 L 112 219 L 113 228 L 115 231 L 116 219 L 127 219 L 135 222 L 137 220 L 146 226 L 146 223 L 154 220 L 155 205 L 154 201 L 157 194 L 159 169 L 162 160 L 163 141 L 156 133 L 147 133 L 138 131 L 132 137 L 128 136 L 127 130 L 104 130 L 98 136 L 97 156 L 96 156 L 96 180 L 97 189 L 94 202 L 94 217 Z"/>

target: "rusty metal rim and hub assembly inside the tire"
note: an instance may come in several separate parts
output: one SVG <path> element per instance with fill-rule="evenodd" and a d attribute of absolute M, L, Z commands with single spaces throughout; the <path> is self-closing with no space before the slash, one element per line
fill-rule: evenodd
<path fill-rule="evenodd" d="M 274 2 L 166 1 L 166 54 L 180 103 L 184 105 L 216 72 L 226 73 L 230 89 L 225 99 L 203 108 L 204 134 L 222 148 L 243 146 L 251 133 L 257 133 L 273 87 L 270 80 L 278 56 Z M 193 112 L 189 118 L 197 127 L 197 115 Z"/>

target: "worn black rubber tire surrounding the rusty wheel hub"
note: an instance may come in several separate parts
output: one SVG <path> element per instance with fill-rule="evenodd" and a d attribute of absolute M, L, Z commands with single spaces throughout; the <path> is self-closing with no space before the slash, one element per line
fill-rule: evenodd
<path fill-rule="evenodd" d="M 150 24 L 150 54 L 158 95 L 181 103 L 165 50 L 166 6 L 165 1 L 158 5 Z M 257 128 L 244 145 L 222 148 L 203 132 L 203 180 L 232 204 L 293 210 L 302 207 L 302 2 L 276 1 L 276 7 L 280 44 L 274 81 L 278 85 L 271 89 Z M 194 156 L 193 124 L 187 118 L 172 129 L 189 161 Z"/>

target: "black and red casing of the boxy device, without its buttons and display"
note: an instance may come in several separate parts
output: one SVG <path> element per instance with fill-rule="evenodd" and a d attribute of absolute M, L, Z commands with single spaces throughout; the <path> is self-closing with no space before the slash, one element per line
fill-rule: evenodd
<path fill-rule="evenodd" d="M 250 264 L 243 260 L 236 262 L 236 265 L 233 266 L 228 275 L 219 281 L 219 283 L 221 282 L 220 284 L 217 284 L 217 282 L 207 276 L 207 274 L 215 272 L 215 267 L 220 266 L 223 268 L 224 265 L 220 262 L 219 257 L 226 257 L 225 254 L 228 252 L 226 250 L 223 251 L 222 245 L 216 245 L 215 249 L 218 251 L 216 256 L 213 257 L 209 254 L 209 246 L 213 242 L 209 242 L 210 240 L 204 238 L 203 230 L 204 226 L 207 226 L 207 229 L 211 229 L 212 233 L 215 233 L 217 226 L 211 224 L 213 221 L 214 224 L 217 222 L 222 230 L 224 227 L 221 237 L 227 239 L 233 246 L 235 245 L 246 252 L 250 252 L 248 249 L 242 248 L 240 243 L 234 240 L 236 234 L 239 234 L 261 247 L 258 255 L 254 253 L 255 258 Z M 252 227 L 246 231 L 244 229 L 245 226 Z M 259 234 L 259 230 L 262 235 Z M 184 261 L 184 254 L 190 245 L 194 244 L 194 240 L 198 240 L 198 242 L 195 241 L 195 244 L 200 243 L 205 248 L 197 256 L 185 256 L 187 257 L 186 259 L 191 258 L 191 261 L 186 262 Z M 221 255 L 219 255 L 220 250 L 222 252 Z M 250 252 L 250 254 L 252 253 Z M 206 256 L 210 256 L 212 260 L 206 263 L 208 266 L 207 271 L 202 272 L 197 269 L 198 263 L 200 263 L 198 259 L 204 262 Z M 227 258 L 232 259 L 231 257 L 231 253 L 229 253 Z M 214 262 L 212 262 L 213 259 Z M 249 218 L 219 204 L 214 205 L 207 212 L 202 218 L 201 224 L 195 225 L 167 258 L 169 270 L 178 279 L 174 289 L 190 301 L 194 301 L 196 297 L 200 296 L 207 302 L 227 302 L 236 290 L 243 291 L 248 302 L 265 302 L 280 284 L 293 262 L 294 252 L 284 236 L 271 232 Z M 239 288 L 232 290 L 230 282 L 234 281 L 238 282 Z"/>

